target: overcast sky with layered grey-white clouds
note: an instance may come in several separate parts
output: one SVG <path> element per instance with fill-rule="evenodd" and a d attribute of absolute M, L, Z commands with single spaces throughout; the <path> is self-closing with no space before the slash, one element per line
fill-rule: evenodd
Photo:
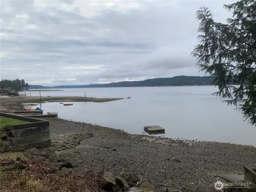
<path fill-rule="evenodd" d="M 80 85 L 197 72 L 196 10 L 231 1 L 1 1 L 1 79 Z"/>

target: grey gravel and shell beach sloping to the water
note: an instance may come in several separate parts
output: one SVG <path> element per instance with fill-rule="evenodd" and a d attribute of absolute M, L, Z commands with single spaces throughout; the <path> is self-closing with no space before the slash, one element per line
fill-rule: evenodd
<path fill-rule="evenodd" d="M 76 166 L 114 174 L 134 171 L 173 189 L 213 185 L 215 174 L 243 174 L 256 166 L 256 148 L 218 142 L 174 141 L 57 118 L 50 121 L 52 150 Z M 90 132 L 92 137 L 88 138 Z"/>

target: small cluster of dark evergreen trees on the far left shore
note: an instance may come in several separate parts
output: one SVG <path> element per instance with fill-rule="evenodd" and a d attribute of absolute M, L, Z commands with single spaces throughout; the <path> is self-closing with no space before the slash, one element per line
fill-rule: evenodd
<path fill-rule="evenodd" d="M 8 89 L 9 92 L 15 92 L 18 94 L 19 91 L 28 89 L 29 85 L 27 82 L 25 82 L 24 79 L 15 79 L 15 80 L 8 80 L 8 79 L 2 79 L 0 82 L 0 88 L 1 89 Z"/>

